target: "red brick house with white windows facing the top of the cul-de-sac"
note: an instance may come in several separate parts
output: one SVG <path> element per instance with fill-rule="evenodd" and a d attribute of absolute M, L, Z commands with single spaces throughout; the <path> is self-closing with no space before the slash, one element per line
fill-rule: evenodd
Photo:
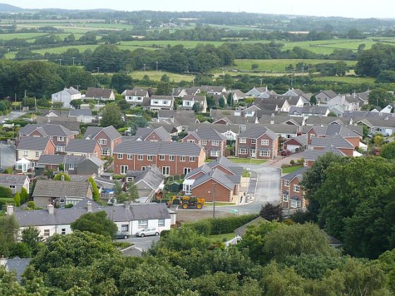
<path fill-rule="evenodd" d="M 241 132 L 236 140 L 236 157 L 274 159 L 279 147 L 279 136 L 268 128 L 253 127 Z"/>

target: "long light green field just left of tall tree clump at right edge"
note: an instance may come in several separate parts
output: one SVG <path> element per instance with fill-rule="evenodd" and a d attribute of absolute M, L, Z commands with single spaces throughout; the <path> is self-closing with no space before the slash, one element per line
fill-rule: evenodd
<path fill-rule="evenodd" d="M 317 63 L 336 63 L 338 61 L 335 60 L 279 60 L 279 59 L 275 59 L 275 60 L 235 60 L 235 68 L 237 70 L 245 70 L 245 71 L 250 71 L 251 70 L 251 65 L 253 65 L 254 63 L 258 65 L 258 68 L 254 69 L 253 71 L 272 71 L 272 72 L 277 72 L 277 73 L 284 73 L 287 72 L 286 71 L 286 66 L 292 64 L 294 68 L 296 68 L 296 64 L 297 63 L 310 63 L 310 64 L 317 64 Z M 348 66 L 355 66 L 356 65 L 356 61 L 345 61 L 347 63 Z"/>

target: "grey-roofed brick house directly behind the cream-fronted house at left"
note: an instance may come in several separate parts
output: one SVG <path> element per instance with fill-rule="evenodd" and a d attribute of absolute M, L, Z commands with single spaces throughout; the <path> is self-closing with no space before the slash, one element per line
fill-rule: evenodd
<path fill-rule="evenodd" d="M 28 124 L 25 125 L 20 131 L 17 139 L 20 140 L 20 137 L 46 137 L 52 140 L 56 149 L 56 153 L 64 152 L 68 141 L 73 140 L 75 138 L 75 132 L 68 130 L 67 128 L 63 127 L 63 125 L 59 124 Z"/>

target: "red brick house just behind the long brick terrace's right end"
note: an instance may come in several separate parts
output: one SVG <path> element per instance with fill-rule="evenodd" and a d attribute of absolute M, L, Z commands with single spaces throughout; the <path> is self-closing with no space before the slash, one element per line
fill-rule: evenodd
<path fill-rule="evenodd" d="M 225 155 L 226 137 L 214 128 L 198 128 L 183 138 L 184 143 L 197 143 L 205 147 L 207 156 L 216 159 Z"/>

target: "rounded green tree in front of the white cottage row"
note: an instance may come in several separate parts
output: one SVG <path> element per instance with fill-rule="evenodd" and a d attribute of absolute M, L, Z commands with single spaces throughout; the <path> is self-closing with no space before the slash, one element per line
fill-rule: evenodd
<path fill-rule="evenodd" d="M 89 231 L 90 233 L 115 238 L 118 227 L 113 221 L 107 218 L 105 211 L 97 211 L 80 216 L 80 218 L 71 223 L 71 229 L 73 231 Z"/>

